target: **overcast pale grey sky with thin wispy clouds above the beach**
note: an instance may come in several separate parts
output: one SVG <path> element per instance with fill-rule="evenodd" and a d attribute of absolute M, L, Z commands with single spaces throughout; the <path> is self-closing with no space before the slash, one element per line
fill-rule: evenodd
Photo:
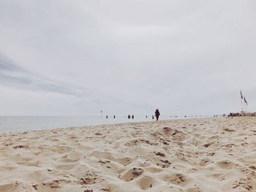
<path fill-rule="evenodd" d="M 0 115 L 256 111 L 255 0 L 0 0 Z"/>

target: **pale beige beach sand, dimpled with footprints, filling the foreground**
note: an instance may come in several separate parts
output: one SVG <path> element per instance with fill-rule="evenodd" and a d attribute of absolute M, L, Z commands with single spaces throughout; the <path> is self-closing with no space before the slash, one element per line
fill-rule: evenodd
<path fill-rule="evenodd" d="M 1 133 L 0 191 L 256 191 L 256 118 Z"/>

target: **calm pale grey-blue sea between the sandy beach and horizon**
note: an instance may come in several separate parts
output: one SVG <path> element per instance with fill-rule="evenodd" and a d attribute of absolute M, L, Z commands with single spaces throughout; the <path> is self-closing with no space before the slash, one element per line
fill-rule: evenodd
<path fill-rule="evenodd" d="M 183 117 L 184 118 L 184 117 Z M 160 116 L 159 120 L 172 119 Z M 128 120 L 124 116 L 108 119 L 101 116 L 0 116 L 0 132 L 67 128 L 72 126 L 96 126 L 102 124 L 127 123 L 152 120 L 151 117 L 136 117 Z M 155 120 L 155 119 L 154 119 Z"/>

